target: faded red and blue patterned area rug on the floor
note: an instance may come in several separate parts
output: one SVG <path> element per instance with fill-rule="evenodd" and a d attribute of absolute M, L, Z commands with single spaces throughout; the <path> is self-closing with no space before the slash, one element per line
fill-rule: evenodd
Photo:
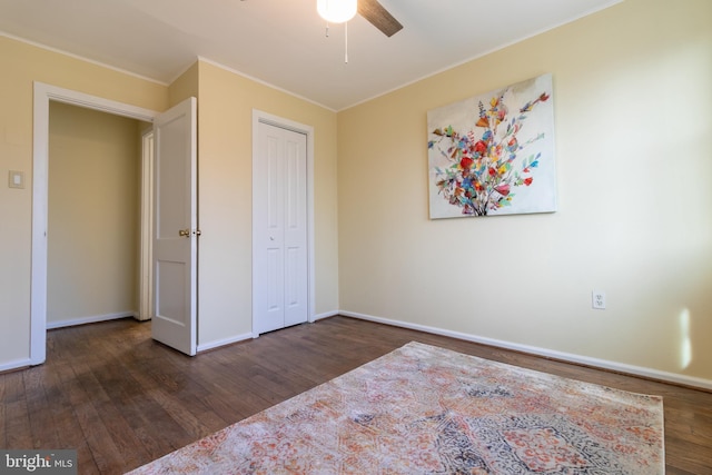
<path fill-rule="evenodd" d="M 409 343 L 139 474 L 662 474 L 662 398 Z"/>

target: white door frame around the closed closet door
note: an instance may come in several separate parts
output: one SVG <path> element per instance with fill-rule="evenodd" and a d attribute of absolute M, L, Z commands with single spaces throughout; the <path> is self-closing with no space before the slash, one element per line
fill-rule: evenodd
<path fill-rule="evenodd" d="M 316 315 L 316 286 L 315 286 L 315 253 L 314 253 L 314 127 L 305 123 L 295 122 L 294 120 L 285 119 L 284 117 L 274 116 L 271 113 L 253 109 L 253 263 L 255 263 L 255 256 L 258 253 L 258 239 L 256 236 L 255 226 L 255 202 L 257 202 L 257 176 L 255 174 L 255 164 L 259 159 L 259 140 L 258 128 L 259 123 L 266 123 L 269 126 L 280 127 L 283 129 L 291 130 L 295 132 L 304 133 L 307 138 L 307 321 L 314 323 Z M 259 336 L 255 331 L 257 328 L 255 321 L 255 274 L 253 270 L 253 338 Z"/>

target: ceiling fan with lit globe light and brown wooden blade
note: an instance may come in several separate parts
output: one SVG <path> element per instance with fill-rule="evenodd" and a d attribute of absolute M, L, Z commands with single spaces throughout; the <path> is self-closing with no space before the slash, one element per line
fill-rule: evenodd
<path fill-rule="evenodd" d="M 403 24 L 378 0 L 317 0 L 316 9 L 332 23 L 346 22 L 358 13 L 387 37 L 403 29 Z"/>

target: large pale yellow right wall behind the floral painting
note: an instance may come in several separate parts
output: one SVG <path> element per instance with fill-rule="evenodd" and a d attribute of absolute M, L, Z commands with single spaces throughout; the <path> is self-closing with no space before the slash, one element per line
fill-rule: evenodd
<path fill-rule="evenodd" d="M 340 308 L 712 380 L 710 18 L 627 0 L 339 112 Z M 428 220 L 427 111 L 544 72 L 558 211 Z"/>

